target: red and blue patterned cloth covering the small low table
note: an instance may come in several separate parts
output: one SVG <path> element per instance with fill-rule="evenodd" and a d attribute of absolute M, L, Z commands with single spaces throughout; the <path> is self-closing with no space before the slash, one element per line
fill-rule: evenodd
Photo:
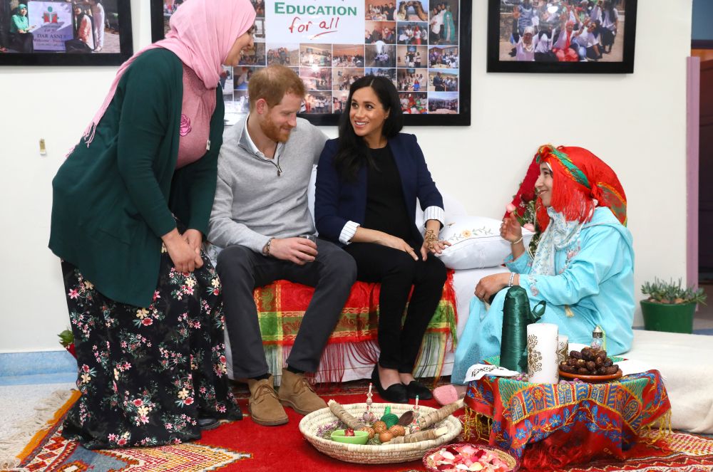
<path fill-rule="evenodd" d="M 484 433 L 491 445 L 518 457 L 527 444 L 571 434 L 580 444 L 623 459 L 647 429 L 667 426 L 671 410 L 656 370 L 600 384 L 530 384 L 486 375 L 468 385 L 465 403 L 471 426 L 466 434 Z M 489 434 L 478 421 L 482 416 Z"/>

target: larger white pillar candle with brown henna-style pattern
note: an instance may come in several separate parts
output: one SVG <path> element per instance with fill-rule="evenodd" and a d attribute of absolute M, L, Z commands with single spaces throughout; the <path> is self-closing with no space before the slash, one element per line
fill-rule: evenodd
<path fill-rule="evenodd" d="M 530 382 L 556 384 L 559 381 L 557 338 L 557 325 L 551 323 L 528 325 L 528 375 Z"/>

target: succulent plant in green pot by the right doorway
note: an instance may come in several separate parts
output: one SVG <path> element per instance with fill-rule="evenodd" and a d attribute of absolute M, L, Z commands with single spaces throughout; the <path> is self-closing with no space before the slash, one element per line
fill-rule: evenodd
<path fill-rule="evenodd" d="M 641 292 L 649 295 L 641 300 L 644 329 L 650 331 L 693 332 L 693 314 L 696 305 L 705 305 L 706 293 L 702 288 L 683 287 L 681 279 L 674 282 L 654 278 L 646 282 Z"/>

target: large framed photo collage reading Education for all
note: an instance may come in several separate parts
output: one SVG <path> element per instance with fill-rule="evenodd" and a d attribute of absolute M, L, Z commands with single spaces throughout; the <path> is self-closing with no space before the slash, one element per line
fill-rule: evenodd
<path fill-rule="evenodd" d="M 300 116 L 315 125 L 336 125 L 349 87 L 366 74 L 394 82 L 406 125 L 471 124 L 470 0 L 251 1 L 255 48 L 221 80 L 228 124 L 247 112 L 252 73 L 270 64 L 302 78 Z M 151 0 L 153 41 L 182 3 Z"/>

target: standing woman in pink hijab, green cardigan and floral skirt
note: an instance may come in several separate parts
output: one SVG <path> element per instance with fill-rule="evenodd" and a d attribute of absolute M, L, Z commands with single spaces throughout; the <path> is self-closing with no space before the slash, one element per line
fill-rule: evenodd
<path fill-rule="evenodd" d="M 201 252 L 222 145 L 221 64 L 252 46 L 250 0 L 191 0 L 118 70 L 53 179 L 81 397 L 63 435 L 88 449 L 175 444 L 240 419 L 220 280 Z"/>

